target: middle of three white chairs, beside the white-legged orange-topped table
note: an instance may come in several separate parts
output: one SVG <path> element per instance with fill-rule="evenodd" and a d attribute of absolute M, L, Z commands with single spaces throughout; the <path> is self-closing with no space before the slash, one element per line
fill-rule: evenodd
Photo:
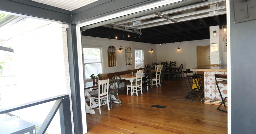
<path fill-rule="evenodd" d="M 127 87 L 127 95 L 129 95 L 129 93 L 136 93 L 136 95 L 138 96 L 138 91 L 140 91 L 141 94 L 142 93 L 142 76 L 143 76 L 143 69 L 142 70 L 138 70 L 136 72 L 136 78 L 135 78 L 135 82 L 132 82 L 132 88 L 131 89 L 131 83 L 127 83 L 126 87 Z M 138 90 L 138 88 L 140 88 Z M 129 90 L 131 90 L 131 92 L 129 92 Z"/>

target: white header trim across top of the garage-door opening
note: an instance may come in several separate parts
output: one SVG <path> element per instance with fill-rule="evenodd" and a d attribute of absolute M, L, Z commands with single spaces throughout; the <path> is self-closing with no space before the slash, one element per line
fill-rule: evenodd
<path fill-rule="evenodd" d="M 157 3 L 157 2 L 159 1 L 151 1 L 151 3 L 148 3 L 148 4 L 140 4 L 140 5 L 133 6 L 132 8 L 125 8 L 123 10 L 118 10 L 118 11 L 113 11 L 111 13 L 98 15 L 90 19 L 83 19 L 83 21 L 77 22 L 76 25 L 83 26 L 81 27 L 81 31 L 84 31 L 86 29 L 115 23 L 125 19 L 132 19 L 132 18 L 144 16 L 145 14 L 151 14 L 157 11 L 165 11 L 172 8 L 185 6 L 188 4 L 202 2 L 202 0 L 182 0 L 181 2 L 177 2 L 177 3 L 173 3 L 174 2 L 173 0 L 169 0 L 169 1 L 165 0 L 165 1 L 162 1 L 163 3 Z M 160 6 L 161 4 L 162 6 Z M 134 10 L 135 8 L 136 9 L 139 8 L 141 11 L 135 11 Z M 102 10 L 102 9 L 98 9 L 98 10 Z M 128 11 L 133 11 L 133 13 L 132 12 L 128 13 Z"/>

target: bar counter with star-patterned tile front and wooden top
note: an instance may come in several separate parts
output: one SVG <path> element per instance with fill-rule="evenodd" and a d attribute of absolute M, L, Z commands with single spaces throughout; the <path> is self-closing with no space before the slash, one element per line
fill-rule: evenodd
<path fill-rule="evenodd" d="M 204 103 L 220 103 L 220 93 L 215 83 L 214 74 L 227 74 L 227 66 L 198 66 L 190 71 L 204 71 Z M 226 97 L 228 95 L 227 85 L 220 85 L 220 91 L 222 97 Z"/>

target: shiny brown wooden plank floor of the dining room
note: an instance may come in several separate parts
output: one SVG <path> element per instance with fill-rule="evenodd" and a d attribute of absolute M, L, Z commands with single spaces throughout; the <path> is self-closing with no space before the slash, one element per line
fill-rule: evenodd
<path fill-rule="evenodd" d="M 127 95 L 119 89 L 121 105 L 113 103 L 95 109 L 95 114 L 86 114 L 87 134 L 91 133 L 181 133 L 181 134 L 225 134 L 228 133 L 227 113 L 217 111 L 218 105 L 204 104 L 200 99 L 184 99 L 187 89 L 184 80 L 166 81 L 161 87 L 138 96 Z M 166 106 L 154 108 L 152 105 Z M 222 107 L 223 109 L 224 107 Z M 227 110 L 227 109 L 226 109 Z"/>

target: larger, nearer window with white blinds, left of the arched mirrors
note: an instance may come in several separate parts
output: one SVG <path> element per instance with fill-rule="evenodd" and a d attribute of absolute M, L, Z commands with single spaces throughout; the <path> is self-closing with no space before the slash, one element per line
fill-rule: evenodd
<path fill-rule="evenodd" d="M 84 54 L 84 78 L 89 79 L 90 75 L 103 73 L 102 50 L 101 48 L 83 48 Z"/>

